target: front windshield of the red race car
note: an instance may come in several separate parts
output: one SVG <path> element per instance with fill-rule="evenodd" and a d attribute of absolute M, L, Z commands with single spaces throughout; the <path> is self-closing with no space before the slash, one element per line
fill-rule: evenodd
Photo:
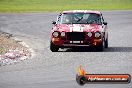
<path fill-rule="evenodd" d="M 58 22 L 60 24 L 101 24 L 101 17 L 95 13 L 64 13 Z"/>

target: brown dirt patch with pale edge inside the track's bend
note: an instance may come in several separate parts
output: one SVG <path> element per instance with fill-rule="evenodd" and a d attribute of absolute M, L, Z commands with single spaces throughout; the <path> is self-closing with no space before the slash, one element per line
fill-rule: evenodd
<path fill-rule="evenodd" d="M 0 66 L 13 64 L 31 56 L 27 47 L 12 38 L 11 34 L 0 32 Z"/>

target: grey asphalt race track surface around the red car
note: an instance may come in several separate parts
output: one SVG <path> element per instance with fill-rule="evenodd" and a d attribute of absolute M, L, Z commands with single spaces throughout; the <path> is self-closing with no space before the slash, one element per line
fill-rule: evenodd
<path fill-rule="evenodd" d="M 1 13 L 0 30 L 14 34 L 33 50 L 33 57 L 0 67 L 0 88 L 80 88 L 76 68 L 88 73 L 132 75 L 132 11 L 102 11 L 109 26 L 104 52 L 49 50 L 51 21 L 58 13 Z M 83 88 L 132 88 L 130 84 L 86 84 Z"/>

